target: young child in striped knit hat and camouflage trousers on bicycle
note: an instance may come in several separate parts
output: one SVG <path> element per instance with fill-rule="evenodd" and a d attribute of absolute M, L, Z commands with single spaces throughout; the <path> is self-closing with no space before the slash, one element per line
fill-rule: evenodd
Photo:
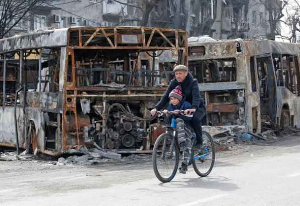
<path fill-rule="evenodd" d="M 164 120 L 167 124 L 170 124 L 171 117 L 168 112 L 173 111 L 176 114 L 176 131 L 180 149 L 182 150 L 182 162 L 179 172 L 185 174 L 189 162 L 192 147 L 192 134 L 193 129 L 191 128 L 190 121 L 192 117 L 179 114 L 180 110 L 191 109 L 191 105 L 188 101 L 185 101 L 184 96 L 181 92 L 181 87 L 176 86 L 169 94 L 170 104 L 166 110 L 164 110 Z"/>

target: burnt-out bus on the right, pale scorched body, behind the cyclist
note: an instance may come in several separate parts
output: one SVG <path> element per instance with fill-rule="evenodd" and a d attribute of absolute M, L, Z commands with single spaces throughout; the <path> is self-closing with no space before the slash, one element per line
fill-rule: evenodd
<path fill-rule="evenodd" d="M 189 43 L 211 134 L 300 128 L 300 45 L 271 40 Z"/>

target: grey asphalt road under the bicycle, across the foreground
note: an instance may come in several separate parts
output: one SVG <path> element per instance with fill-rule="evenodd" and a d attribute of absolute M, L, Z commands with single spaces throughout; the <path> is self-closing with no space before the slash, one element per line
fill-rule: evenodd
<path fill-rule="evenodd" d="M 189 167 L 169 183 L 156 179 L 151 162 L 13 169 L 0 174 L 0 205 L 299 205 L 299 183 L 294 135 L 219 153 L 210 176 Z"/>

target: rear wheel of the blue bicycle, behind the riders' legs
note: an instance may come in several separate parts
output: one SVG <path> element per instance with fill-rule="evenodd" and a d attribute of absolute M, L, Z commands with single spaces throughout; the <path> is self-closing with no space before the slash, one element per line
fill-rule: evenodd
<path fill-rule="evenodd" d="M 192 166 L 201 177 L 209 175 L 215 163 L 215 146 L 212 136 L 202 132 L 203 148 L 199 151 L 192 149 Z"/>

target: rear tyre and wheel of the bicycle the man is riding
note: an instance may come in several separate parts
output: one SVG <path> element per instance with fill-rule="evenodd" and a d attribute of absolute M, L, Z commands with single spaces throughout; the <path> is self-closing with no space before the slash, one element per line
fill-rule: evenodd
<path fill-rule="evenodd" d="M 215 151 L 215 145 L 214 145 L 214 140 L 213 140 L 212 136 L 208 132 L 203 131 L 202 137 L 203 137 L 203 145 L 208 148 L 209 155 L 206 156 L 205 159 L 194 160 L 193 159 L 194 155 L 195 154 L 198 155 L 199 151 L 192 149 L 192 166 L 193 166 L 195 172 L 197 173 L 197 175 L 199 175 L 201 177 L 206 177 L 211 173 L 211 171 L 214 167 L 216 151 Z M 200 169 L 200 167 L 203 167 L 205 169 Z M 208 168 L 208 169 L 206 169 L 206 168 Z"/>

